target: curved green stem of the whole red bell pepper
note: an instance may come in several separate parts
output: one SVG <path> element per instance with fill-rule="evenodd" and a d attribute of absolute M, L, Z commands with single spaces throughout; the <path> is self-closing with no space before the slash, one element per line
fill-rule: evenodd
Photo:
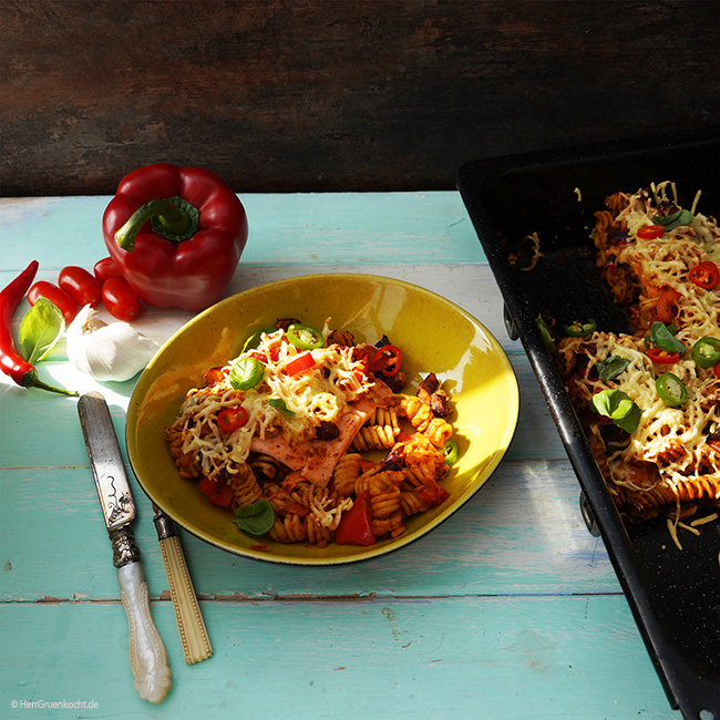
<path fill-rule="evenodd" d="M 198 209 L 182 197 L 150 200 L 138 207 L 115 233 L 115 243 L 123 250 L 132 253 L 135 249 L 135 237 L 147 220 L 157 235 L 173 243 L 182 243 L 195 234 L 198 218 Z"/>

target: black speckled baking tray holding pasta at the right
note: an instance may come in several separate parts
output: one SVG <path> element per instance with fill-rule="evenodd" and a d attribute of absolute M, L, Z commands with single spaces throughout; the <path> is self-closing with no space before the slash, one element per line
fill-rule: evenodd
<path fill-rule="evenodd" d="M 664 520 L 625 523 L 593 457 L 579 421 L 536 326 L 541 311 L 568 323 L 593 317 L 628 331 L 595 267 L 593 213 L 616 191 L 672 181 L 679 202 L 718 217 L 718 127 L 662 136 L 477 160 L 457 173 L 467 208 L 505 304 L 505 325 L 520 337 L 577 474 L 583 515 L 603 536 L 670 706 L 692 720 L 720 720 L 720 565 L 718 524 L 681 534 Z M 543 256 L 532 271 L 537 233 Z M 510 255 L 520 255 L 511 263 Z"/>

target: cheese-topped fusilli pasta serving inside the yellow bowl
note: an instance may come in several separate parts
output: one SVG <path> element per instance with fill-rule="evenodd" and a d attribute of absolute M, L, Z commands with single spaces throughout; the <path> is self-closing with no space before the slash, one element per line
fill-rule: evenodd
<path fill-rule="evenodd" d="M 370 545 L 440 505 L 457 456 L 452 403 L 431 373 L 405 393 L 402 351 L 382 338 L 277 320 L 192 389 L 167 443 L 198 502 L 280 543 Z M 232 517 L 232 516 L 230 516 Z"/>

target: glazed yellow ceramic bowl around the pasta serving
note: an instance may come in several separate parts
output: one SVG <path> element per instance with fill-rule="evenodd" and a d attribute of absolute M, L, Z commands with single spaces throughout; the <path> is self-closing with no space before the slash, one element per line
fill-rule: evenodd
<path fill-rule="evenodd" d="M 165 444 L 165 428 L 185 393 L 203 383 L 205 370 L 239 354 L 255 330 L 295 317 L 348 329 L 374 344 L 383 335 L 403 351 L 403 370 L 416 384 L 435 372 L 452 392 L 451 421 L 460 461 L 443 481 L 450 497 L 407 522 L 407 532 L 368 547 L 285 545 L 239 531 L 228 510 L 216 507 L 179 477 Z M 127 410 L 130 462 L 150 498 L 179 526 L 225 551 L 275 563 L 332 565 L 383 555 L 424 535 L 450 517 L 487 481 L 517 423 L 520 398 L 513 369 L 495 338 L 477 320 L 422 288 L 367 275 L 316 275 L 240 292 L 181 328 L 141 376 Z M 267 543 L 267 547 L 260 549 Z"/>

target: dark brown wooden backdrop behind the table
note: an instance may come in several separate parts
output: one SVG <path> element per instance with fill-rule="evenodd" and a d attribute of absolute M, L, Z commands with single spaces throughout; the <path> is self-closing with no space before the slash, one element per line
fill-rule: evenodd
<path fill-rule="evenodd" d="M 0 0 L 4 196 L 203 165 L 450 189 L 479 157 L 718 123 L 717 0 Z"/>

